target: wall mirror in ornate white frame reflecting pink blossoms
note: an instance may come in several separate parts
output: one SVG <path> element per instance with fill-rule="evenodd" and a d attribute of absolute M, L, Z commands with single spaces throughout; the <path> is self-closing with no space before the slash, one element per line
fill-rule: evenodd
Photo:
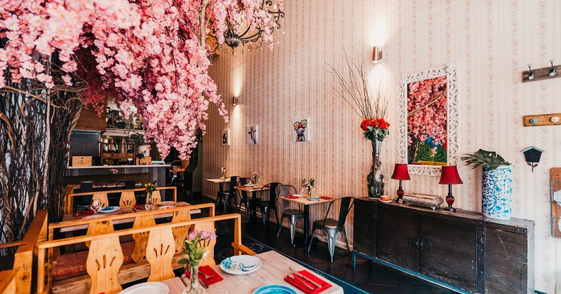
<path fill-rule="evenodd" d="M 398 99 L 398 162 L 411 174 L 440 175 L 457 165 L 458 63 L 402 76 Z"/>

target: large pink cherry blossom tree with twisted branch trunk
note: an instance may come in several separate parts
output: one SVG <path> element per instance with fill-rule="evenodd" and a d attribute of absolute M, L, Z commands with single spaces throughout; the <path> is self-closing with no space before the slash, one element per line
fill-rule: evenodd
<path fill-rule="evenodd" d="M 144 117 L 145 138 L 154 140 L 163 156 L 175 147 L 180 157 L 187 159 L 196 146 L 196 130 L 205 132 L 204 120 L 208 118 L 210 103 L 217 105 L 219 115 L 228 120 L 217 87 L 208 76 L 209 52 L 216 48 L 211 48 L 205 39 L 209 34 L 216 36 L 218 46 L 224 43 L 228 29 L 239 29 L 245 22 L 251 28 L 262 29 L 263 41 L 272 48 L 273 17 L 264 3 L 263 0 L 0 0 L 0 92 L 6 97 L 11 95 L 14 101 L 13 107 L 2 109 L 0 116 L 4 123 L 0 131 L 3 136 L 6 134 L 3 145 L 15 150 L 19 144 L 22 151 L 36 148 L 36 154 L 43 158 L 37 163 L 47 171 L 49 162 L 60 162 L 57 160 L 64 159 L 67 153 L 63 144 L 54 157 L 49 155 L 53 153 L 49 139 L 50 124 L 57 123 L 55 113 L 67 114 L 61 120 L 64 130 L 59 138 L 66 142 L 80 105 L 91 105 L 101 112 L 110 95 L 123 111 L 132 105 L 137 108 Z M 51 99 L 53 93 L 62 93 L 65 98 L 55 104 Z M 30 118 L 25 108 L 35 103 L 46 106 L 45 111 L 36 113 L 37 117 L 43 117 L 41 125 L 47 130 L 46 141 L 39 144 L 42 147 L 18 140 L 25 130 L 13 132 L 12 127 Z M 16 109 L 21 113 L 10 113 L 17 112 Z M 37 197 L 35 188 L 6 190 L 18 181 L 14 166 L 10 167 L 16 153 L 12 160 L 3 162 L 0 194 L 3 197 L 23 194 L 25 203 L 21 204 L 20 212 L 27 211 L 27 214 L 30 204 L 35 203 L 32 211 L 44 207 L 46 204 L 41 201 L 37 204 L 37 199 L 46 199 L 47 195 L 55 197 L 56 206 L 61 207 L 60 193 L 57 196 L 53 191 L 62 190 L 62 181 L 52 186 L 45 171 L 29 179 L 40 183 L 36 187 Z M 32 169 L 24 162 L 23 168 Z M 58 173 L 64 174 L 65 165 L 60 166 Z M 11 207 L 2 205 L 12 200 L 4 200 L 0 200 L 2 216 L 11 214 Z M 26 216 L 20 222 L 24 224 L 22 228 L 30 219 Z M 0 241 L 19 239 L 20 233 L 0 235 Z"/>

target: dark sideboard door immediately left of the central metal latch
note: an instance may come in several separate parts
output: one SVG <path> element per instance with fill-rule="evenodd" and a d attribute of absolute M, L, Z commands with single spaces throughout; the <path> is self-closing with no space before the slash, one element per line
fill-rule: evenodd
<path fill-rule="evenodd" d="M 378 207 L 377 257 L 419 272 L 419 216 Z"/>

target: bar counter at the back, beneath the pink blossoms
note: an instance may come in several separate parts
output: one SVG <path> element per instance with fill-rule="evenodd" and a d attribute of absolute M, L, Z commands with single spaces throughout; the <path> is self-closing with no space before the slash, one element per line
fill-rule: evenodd
<path fill-rule="evenodd" d="M 158 181 L 157 186 L 165 186 L 165 176 L 170 165 L 98 165 L 91 167 L 68 167 L 66 183 L 81 181 L 114 181 L 135 180 L 147 183 Z M 108 170 L 116 169 L 117 174 L 110 175 Z"/>

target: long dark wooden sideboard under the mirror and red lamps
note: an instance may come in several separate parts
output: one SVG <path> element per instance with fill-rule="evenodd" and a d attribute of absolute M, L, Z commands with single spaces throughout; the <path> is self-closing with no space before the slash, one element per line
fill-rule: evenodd
<path fill-rule="evenodd" d="M 356 256 L 456 290 L 534 293 L 534 222 L 357 198 Z"/>

